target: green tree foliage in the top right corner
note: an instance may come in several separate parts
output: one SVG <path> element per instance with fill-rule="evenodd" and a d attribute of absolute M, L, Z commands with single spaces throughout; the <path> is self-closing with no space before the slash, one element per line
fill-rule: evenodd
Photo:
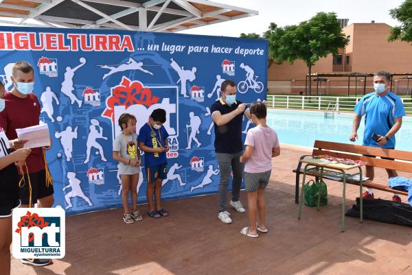
<path fill-rule="evenodd" d="M 412 0 L 406 0 L 398 8 L 389 10 L 389 14 L 401 25 L 391 28 L 388 40 L 390 42 L 395 40 L 412 42 Z"/>

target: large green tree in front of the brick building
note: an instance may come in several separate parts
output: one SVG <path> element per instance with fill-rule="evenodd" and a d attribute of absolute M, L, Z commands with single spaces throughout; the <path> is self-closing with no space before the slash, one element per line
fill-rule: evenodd
<path fill-rule="evenodd" d="M 312 66 L 319 58 L 324 58 L 330 53 L 336 56 L 339 49 L 347 43 L 341 24 L 333 12 L 319 12 L 309 21 L 303 21 L 299 25 L 277 27 L 275 23 L 271 23 L 262 36 L 241 34 L 241 37 L 267 39 L 268 58 L 277 64 L 284 61 L 293 64 L 297 59 L 303 60 L 308 67 L 309 94 L 312 91 Z"/>

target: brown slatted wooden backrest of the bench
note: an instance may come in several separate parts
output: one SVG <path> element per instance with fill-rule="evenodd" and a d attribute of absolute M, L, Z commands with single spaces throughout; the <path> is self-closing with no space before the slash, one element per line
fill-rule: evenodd
<path fill-rule="evenodd" d="M 325 152 L 325 150 L 328 150 L 328 152 Z M 412 172 L 412 152 L 330 141 L 314 141 L 312 155 L 317 156 L 322 154 L 335 156 L 337 158 L 363 160 L 367 165 L 374 167 Z M 385 160 L 363 155 L 394 158 L 395 160 Z"/>

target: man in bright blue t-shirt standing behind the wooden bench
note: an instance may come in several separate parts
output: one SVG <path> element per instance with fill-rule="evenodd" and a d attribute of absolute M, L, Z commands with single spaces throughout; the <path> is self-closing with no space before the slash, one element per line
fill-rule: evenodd
<path fill-rule="evenodd" d="M 365 115 L 365 132 L 363 145 L 387 149 L 395 149 L 395 134 L 402 125 L 402 117 L 405 115 L 402 100 L 389 91 L 391 88 L 391 74 L 386 71 L 378 71 L 374 74 L 374 93 L 362 97 L 356 104 L 354 111 L 353 131 L 350 141 L 358 138 L 358 128 L 363 115 Z M 372 139 L 377 134 L 378 139 Z M 386 169 L 389 178 L 398 176 L 395 170 Z M 374 167 L 366 166 L 366 176 L 374 180 Z M 374 198 L 371 189 L 363 193 L 363 198 Z M 400 202 L 398 195 L 394 194 L 392 200 Z"/>

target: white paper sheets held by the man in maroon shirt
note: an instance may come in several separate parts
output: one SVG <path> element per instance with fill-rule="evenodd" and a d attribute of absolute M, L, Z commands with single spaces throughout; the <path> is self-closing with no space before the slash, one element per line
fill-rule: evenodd
<path fill-rule="evenodd" d="M 20 141 L 27 141 L 25 148 L 50 146 L 49 126 L 47 124 L 34 125 L 23 129 L 16 129 Z"/>

